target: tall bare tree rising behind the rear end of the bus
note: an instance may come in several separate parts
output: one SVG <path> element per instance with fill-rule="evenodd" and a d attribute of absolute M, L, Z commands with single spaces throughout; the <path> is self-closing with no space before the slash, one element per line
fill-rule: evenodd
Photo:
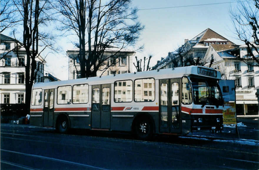
<path fill-rule="evenodd" d="M 41 28 L 51 20 L 47 12 L 51 9 L 49 1 L 13 0 L 16 10 L 22 16 L 23 41 L 21 46 L 26 51 L 25 64 L 25 103 L 30 110 L 31 88 L 39 70 L 36 58 L 46 49 L 57 50 L 53 47 L 54 37 Z M 44 29 L 44 28 L 43 28 Z"/>

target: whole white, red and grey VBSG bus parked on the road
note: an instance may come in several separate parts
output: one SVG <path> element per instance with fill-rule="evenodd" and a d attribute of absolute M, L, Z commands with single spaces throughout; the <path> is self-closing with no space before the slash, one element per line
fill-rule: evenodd
<path fill-rule="evenodd" d="M 36 83 L 30 124 L 107 131 L 185 135 L 221 130 L 223 100 L 218 71 L 188 66 Z"/>

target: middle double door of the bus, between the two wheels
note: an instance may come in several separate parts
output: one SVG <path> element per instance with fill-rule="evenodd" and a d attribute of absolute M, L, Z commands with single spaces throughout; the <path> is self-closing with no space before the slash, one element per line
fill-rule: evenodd
<path fill-rule="evenodd" d="M 111 84 L 92 86 L 92 128 L 111 127 Z"/>

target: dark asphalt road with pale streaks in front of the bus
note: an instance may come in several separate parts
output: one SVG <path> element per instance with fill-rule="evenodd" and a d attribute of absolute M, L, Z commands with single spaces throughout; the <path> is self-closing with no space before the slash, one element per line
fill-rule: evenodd
<path fill-rule="evenodd" d="M 1 169 L 259 169 L 258 146 L 1 124 Z"/>

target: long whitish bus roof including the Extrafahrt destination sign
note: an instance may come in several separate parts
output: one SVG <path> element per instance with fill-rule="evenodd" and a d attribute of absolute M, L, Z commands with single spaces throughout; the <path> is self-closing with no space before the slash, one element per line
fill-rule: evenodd
<path fill-rule="evenodd" d="M 35 83 L 32 87 L 33 89 L 52 89 L 58 86 L 64 85 L 76 85 L 76 84 L 88 84 L 88 85 L 98 85 L 98 84 L 109 84 L 114 81 L 119 80 L 135 80 L 139 78 L 155 78 L 155 79 L 167 79 L 167 78 L 180 78 L 184 75 L 199 75 L 202 77 L 215 78 L 217 80 L 221 79 L 219 71 L 212 68 L 207 68 L 203 66 L 187 66 L 187 67 L 177 67 L 177 68 L 167 68 L 161 70 L 150 70 L 137 73 L 126 73 L 126 74 L 116 74 L 107 75 L 103 77 L 91 77 L 91 78 L 79 78 L 73 80 L 63 80 L 54 81 L 47 83 Z"/>

